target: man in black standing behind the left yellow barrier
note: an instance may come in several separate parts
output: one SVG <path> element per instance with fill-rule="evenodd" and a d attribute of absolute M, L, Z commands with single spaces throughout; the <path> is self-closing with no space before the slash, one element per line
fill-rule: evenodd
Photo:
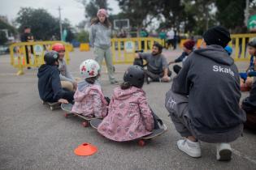
<path fill-rule="evenodd" d="M 33 42 L 34 41 L 33 34 L 31 33 L 31 29 L 29 27 L 24 27 L 24 33 L 20 36 L 20 40 L 21 40 L 21 42 Z M 31 53 L 33 53 L 33 45 L 30 45 L 30 47 L 28 47 L 28 45 L 25 45 L 27 64 L 29 64 L 28 48 L 30 48 Z M 28 69 L 30 69 L 29 66 L 28 66 Z"/>

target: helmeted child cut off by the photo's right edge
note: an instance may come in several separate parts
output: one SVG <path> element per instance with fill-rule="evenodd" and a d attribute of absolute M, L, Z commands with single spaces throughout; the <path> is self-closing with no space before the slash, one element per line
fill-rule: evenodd
<path fill-rule="evenodd" d="M 254 69 L 256 60 L 254 57 L 256 56 L 256 39 L 251 40 L 248 43 L 248 53 L 251 55 L 249 67 L 245 73 L 240 73 L 241 77 L 241 87 L 252 87 L 253 84 L 253 76 L 256 76 L 256 70 Z"/>

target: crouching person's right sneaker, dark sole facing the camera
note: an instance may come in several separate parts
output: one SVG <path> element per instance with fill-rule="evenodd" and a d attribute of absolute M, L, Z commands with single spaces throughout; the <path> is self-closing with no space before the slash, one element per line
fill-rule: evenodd
<path fill-rule="evenodd" d="M 217 160 L 230 160 L 232 151 L 229 143 L 221 142 L 216 145 Z"/>

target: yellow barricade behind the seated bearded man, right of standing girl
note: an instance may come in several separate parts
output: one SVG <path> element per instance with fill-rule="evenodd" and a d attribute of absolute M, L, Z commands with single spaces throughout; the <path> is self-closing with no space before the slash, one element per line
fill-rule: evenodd
<path fill-rule="evenodd" d="M 154 42 L 163 45 L 164 41 L 154 37 L 136 38 L 113 38 L 111 39 L 111 51 L 113 64 L 132 64 L 136 50 L 141 50 L 144 45 L 144 52 L 152 49 Z"/>

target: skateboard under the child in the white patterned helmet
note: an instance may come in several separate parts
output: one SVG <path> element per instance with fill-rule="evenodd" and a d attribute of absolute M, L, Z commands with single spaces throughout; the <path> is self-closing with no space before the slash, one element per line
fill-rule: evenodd
<path fill-rule="evenodd" d="M 82 123 L 84 127 L 88 127 L 90 125 L 89 122 L 92 120 L 95 120 L 95 119 L 101 120 L 103 118 L 103 117 L 85 117 L 78 113 L 72 113 L 72 107 L 73 107 L 73 104 L 61 104 L 61 108 L 63 109 L 63 111 L 67 112 L 64 116 L 66 118 L 70 116 L 75 116 L 75 117 L 80 117 L 84 119 L 85 121 Z"/>

